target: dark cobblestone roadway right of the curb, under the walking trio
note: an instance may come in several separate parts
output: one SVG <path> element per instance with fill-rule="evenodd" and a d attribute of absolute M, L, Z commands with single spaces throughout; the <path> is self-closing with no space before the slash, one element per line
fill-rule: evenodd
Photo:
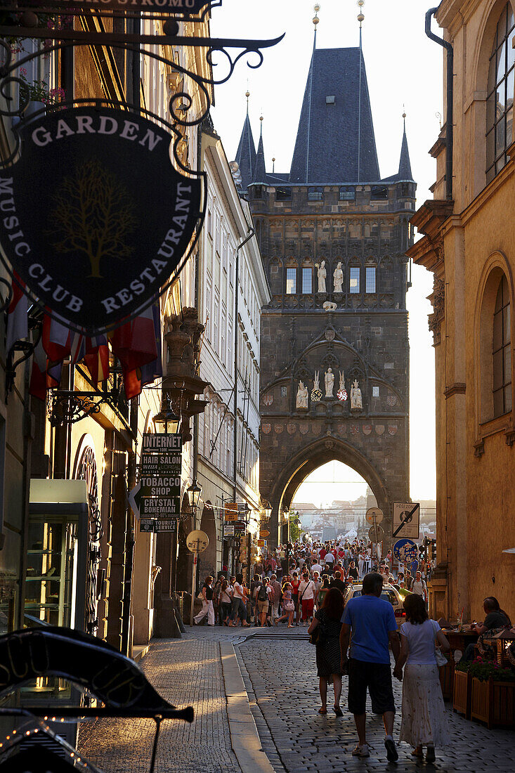
<path fill-rule="evenodd" d="M 301 638 L 302 637 L 302 638 Z M 515 770 L 515 736 L 506 730 L 487 730 L 448 710 L 454 744 L 438 752 L 435 765 L 414 761 L 407 744 L 399 746 L 399 761 L 389 764 L 384 749 L 381 717 L 368 714 L 367 738 L 370 758 L 352 757 L 357 737 L 353 717 L 346 710 L 347 680 L 343 678 L 341 706 L 337 718 L 333 690 L 328 691 L 328 714 L 319 713 L 315 648 L 305 637 L 305 628 L 261 632 L 237 648 L 257 730 L 275 771 L 397 771 L 429 769 L 439 773 L 479 773 Z M 397 706 L 394 738 L 400 727 L 401 684 L 394 679 Z M 370 701 L 367 706 L 370 711 Z"/>

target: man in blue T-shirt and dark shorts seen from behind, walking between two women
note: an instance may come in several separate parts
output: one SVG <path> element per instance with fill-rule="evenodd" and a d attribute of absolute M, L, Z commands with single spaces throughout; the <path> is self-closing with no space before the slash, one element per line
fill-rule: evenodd
<path fill-rule="evenodd" d="M 394 731 L 395 704 L 391 686 L 391 644 L 395 662 L 401 654 L 397 635 L 397 621 L 389 601 L 380 598 L 383 577 L 371 572 L 363 578 L 362 595 L 347 601 L 343 611 L 342 631 L 339 643 L 342 651 L 342 670 L 349 670 L 349 710 L 354 714 L 359 743 L 353 751 L 355 757 L 369 757 L 367 744 L 367 688 L 374 714 L 382 714 L 386 738 L 384 745 L 388 761 L 398 759 L 392 733 Z M 350 659 L 347 657 L 350 632 Z"/>

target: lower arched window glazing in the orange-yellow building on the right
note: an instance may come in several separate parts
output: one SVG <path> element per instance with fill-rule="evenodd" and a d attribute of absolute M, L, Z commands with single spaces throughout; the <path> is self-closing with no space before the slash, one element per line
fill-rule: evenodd
<path fill-rule="evenodd" d="M 493 312 L 493 415 L 511 410 L 511 309 L 510 292 L 503 274 Z"/>

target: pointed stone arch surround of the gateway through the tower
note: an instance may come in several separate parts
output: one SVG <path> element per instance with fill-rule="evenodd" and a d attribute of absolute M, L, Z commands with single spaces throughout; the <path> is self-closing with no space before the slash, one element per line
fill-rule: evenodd
<path fill-rule="evenodd" d="M 390 540 L 392 500 L 386 483 L 370 461 L 356 448 L 336 438 L 322 438 L 306 446 L 288 460 L 275 478 L 275 483 L 268 494 L 272 506 L 270 538 L 272 545 L 280 541 L 278 526 L 281 510 L 290 508 L 295 492 L 305 478 L 328 461 L 343 462 L 344 465 L 353 468 L 370 485 L 377 499 L 377 506 L 384 512 L 384 532 L 386 540 Z"/>

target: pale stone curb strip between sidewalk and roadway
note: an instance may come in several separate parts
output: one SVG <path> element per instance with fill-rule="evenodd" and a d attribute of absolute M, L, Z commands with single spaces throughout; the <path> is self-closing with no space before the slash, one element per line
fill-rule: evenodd
<path fill-rule="evenodd" d="M 244 773 L 274 773 L 274 768 L 261 747 L 247 690 L 231 642 L 220 642 L 220 659 L 227 696 L 230 744 L 238 764 Z"/>

